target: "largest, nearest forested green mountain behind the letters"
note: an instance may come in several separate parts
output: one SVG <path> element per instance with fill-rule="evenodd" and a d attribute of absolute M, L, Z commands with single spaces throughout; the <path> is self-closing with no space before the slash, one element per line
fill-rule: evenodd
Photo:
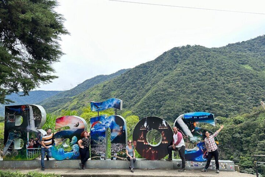
<path fill-rule="evenodd" d="M 175 47 L 51 110 L 78 110 L 115 97 L 140 118 L 172 122 L 186 112 L 247 113 L 265 96 L 264 56 L 264 35 L 220 48 Z"/>

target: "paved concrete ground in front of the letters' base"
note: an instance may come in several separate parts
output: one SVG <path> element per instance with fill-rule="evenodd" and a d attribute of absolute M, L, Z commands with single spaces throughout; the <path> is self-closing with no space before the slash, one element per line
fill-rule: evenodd
<path fill-rule="evenodd" d="M 178 172 L 177 169 L 134 169 L 134 173 L 130 172 L 129 169 L 3 169 L 0 170 L 10 170 L 10 171 L 20 171 L 22 173 L 27 173 L 29 171 L 38 171 L 41 173 L 54 173 L 60 174 L 64 177 L 153 177 L 153 176 L 163 176 L 163 177 L 255 177 L 256 175 L 238 173 L 238 172 L 229 172 L 229 171 L 220 171 L 219 174 L 215 171 L 201 172 L 199 170 L 187 170 L 185 172 Z"/>

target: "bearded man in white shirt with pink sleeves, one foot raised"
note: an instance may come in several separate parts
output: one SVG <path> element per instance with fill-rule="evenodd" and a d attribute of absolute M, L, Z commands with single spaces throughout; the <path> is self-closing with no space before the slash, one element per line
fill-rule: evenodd
<path fill-rule="evenodd" d="M 173 127 L 173 144 L 168 146 L 168 159 L 166 159 L 166 161 L 172 161 L 172 151 L 177 150 L 182 160 L 182 168 L 178 170 L 180 172 L 186 171 L 185 148 L 182 134 L 178 131 L 177 127 Z"/>

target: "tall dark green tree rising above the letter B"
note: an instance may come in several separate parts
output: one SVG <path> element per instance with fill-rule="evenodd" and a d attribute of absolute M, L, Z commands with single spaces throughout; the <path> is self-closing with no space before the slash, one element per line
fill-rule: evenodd
<path fill-rule="evenodd" d="M 58 41 L 69 34 L 57 6 L 57 0 L 0 0 L 0 103 L 57 78 L 52 64 L 63 55 Z"/>

